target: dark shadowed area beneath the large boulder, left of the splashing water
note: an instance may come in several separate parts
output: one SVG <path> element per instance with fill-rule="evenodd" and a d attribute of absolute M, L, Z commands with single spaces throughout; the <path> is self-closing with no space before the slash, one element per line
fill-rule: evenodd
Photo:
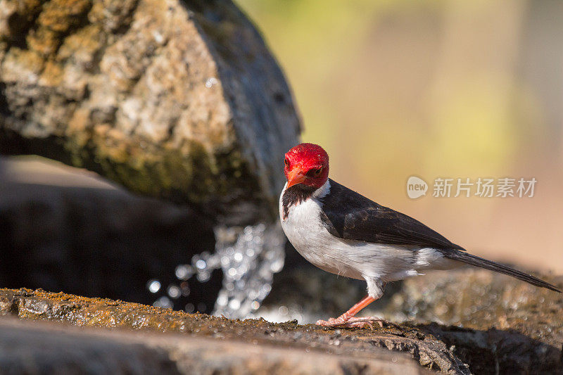
<path fill-rule="evenodd" d="M 179 264 L 213 251 L 213 226 L 189 208 L 115 189 L 8 183 L 0 186 L 0 285 L 44 288 L 152 304 L 179 286 Z M 150 293 L 148 280 L 160 290 Z M 187 283 L 188 281 L 184 281 Z M 189 280 L 172 299 L 211 312 L 222 274 Z M 184 293 L 186 294 L 186 293 Z"/>

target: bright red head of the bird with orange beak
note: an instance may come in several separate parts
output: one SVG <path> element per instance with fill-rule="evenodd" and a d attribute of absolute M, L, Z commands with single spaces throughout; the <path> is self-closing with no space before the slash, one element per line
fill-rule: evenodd
<path fill-rule="evenodd" d="M 319 189 L 329 178 L 329 154 L 317 144 L 298 144 L 286 153 L 287 187 L 303 184 Z"/>

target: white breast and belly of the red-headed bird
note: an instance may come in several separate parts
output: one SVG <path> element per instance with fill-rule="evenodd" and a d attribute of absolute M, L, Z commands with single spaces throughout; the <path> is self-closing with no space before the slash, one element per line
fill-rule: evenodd
<path fill-rule="evenodd" d="M 329 193 L 329 181 L 311 198 L 292 205 L 284 220 L 281 197 L 285 190 L 284 186 L 279 199 L 281 227 L 303 258 L 320 269 L 353 279 L 393 281 L 415 276 L 421 269 L 442 268 L 441 253 L 431 248 L 352 241 L 330 234 L 320 219 L 319 201 Z"/>

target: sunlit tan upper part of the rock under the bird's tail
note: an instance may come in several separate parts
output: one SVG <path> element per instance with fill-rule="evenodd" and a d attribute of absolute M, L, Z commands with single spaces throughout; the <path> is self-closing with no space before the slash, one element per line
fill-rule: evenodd
<path fill-rule="evenodd" d="M 563 285 L 563 277 L 538 276 L 556 286 Z M 394 319 L 467 329 L 514 329 L 556 344 L 563 342 L 562 308 L 562 293 L 467 268 L 408 279 L 381 311 Z"/>

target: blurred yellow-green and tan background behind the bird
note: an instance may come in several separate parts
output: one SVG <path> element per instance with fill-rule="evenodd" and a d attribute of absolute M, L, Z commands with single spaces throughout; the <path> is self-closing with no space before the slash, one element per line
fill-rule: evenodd
<path fill-rule="evenodd" d="M 563 3 L 238 0 L 331 177 L 472 253 L 563 272 Z M 429 183 L 411 200 L 411 175 Z M 436 177 L 535 177 L 533 198 L 433 198 Z"/>

